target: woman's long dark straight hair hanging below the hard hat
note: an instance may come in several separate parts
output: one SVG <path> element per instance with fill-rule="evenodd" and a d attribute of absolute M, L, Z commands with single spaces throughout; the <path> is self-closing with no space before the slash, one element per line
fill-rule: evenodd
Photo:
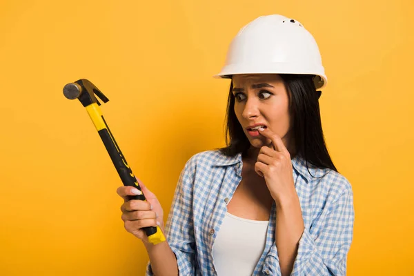
<path fill-rule="evenodd" d="M 296 154 L 318 168 L 331 168 L 337 172 L 326 148 L 319 112 L 320 91 L 315 89 L 315 75 L 280 74 L 289 97 L 290 117 L 293 117 Z M 246 154 L 250 141 L 244 134 L 235 114 L 233 81 L 230 83 L 226 110 L 226 147 L 217 148 L 224 155 L 234 157 L 237 153 Z"/>

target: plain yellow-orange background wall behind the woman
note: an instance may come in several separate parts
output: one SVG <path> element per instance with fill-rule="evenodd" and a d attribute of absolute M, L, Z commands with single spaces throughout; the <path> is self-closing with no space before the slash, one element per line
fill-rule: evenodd
<path fill-rule="evenodd" d="M 108 96 L 103 115 L 166 219 L 185 162 L 224 146 L 229 81 L 212 75 L 239 29 L 272 13 L 303 23 L 322 52 L 324 133 L 355 196 L 348 275 L 413 275 L 413 6 L 1 1 L 0 275 L 144 275 L 121 181 L 62 88 L 86 78 Z"/>

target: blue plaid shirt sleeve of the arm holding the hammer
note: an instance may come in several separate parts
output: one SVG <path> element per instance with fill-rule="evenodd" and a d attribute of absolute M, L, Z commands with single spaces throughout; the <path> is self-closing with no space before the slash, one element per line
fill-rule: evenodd
<path fill-rule="evenodd" d="M 166 240 L 177 258 L 179 275 L 195 275 L 195 238 L 193 228 L 193 181 L 195 161 L 191 158 L 181 170 L 166 223 Z M 152 276 L 150 262 L 146 275 Z"/>

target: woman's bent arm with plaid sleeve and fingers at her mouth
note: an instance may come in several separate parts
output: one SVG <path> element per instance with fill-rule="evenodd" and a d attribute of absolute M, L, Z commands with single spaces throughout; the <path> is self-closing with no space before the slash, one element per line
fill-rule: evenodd
<path fill-rule="evenodd" d="M 256 172 L 264 176 L 270 195 L 277 205 L 277 246 L 271 249 L 270 254 L 275 258 L 276 264 L 273 264 L 272 270 L 277 273 L 277 268 L 281 266 L 281 273 L 288 275 L 293 263 L 290 275 L 345 275 L 346 256 L 353 237 L 351 184 L 337 172 L 325 175 L 317 183 L 319 189 L 323 189 L 323 197 L 313 195 L 315 201 L 322 204 L 322 212 L 316 214 L 311 226 L 304 228 L 290 153 L 274 132 L 268 128 L 259 128 L 259 131 L 273 145 L 273 149 L 267 146 L 260 148 L 255 164 Z M 266 264 L 265 271 L 268 269 L 269 264 Z"/>

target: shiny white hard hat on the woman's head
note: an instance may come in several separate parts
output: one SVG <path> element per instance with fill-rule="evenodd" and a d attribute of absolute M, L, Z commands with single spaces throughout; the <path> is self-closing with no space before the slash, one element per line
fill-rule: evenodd
<path fill-rule="evenodd" d="M 299 21 L 270 14 L 251 21 L 228 48 L 226 63 L 215 78 L 235 74 L 316 75 L 315 88 L 326 86 L 317 43 Z"/>

